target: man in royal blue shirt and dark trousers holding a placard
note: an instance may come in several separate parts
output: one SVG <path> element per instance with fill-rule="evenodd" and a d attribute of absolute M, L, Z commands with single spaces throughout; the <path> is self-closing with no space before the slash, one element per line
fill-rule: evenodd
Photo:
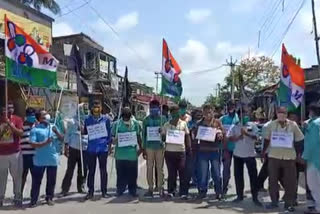
<path fill-rule="evenodd" d="M 100 169 L 101 194 L 103 198 L 109 197 L 107 194 L 107 159 L 109 144 L 111 144 L 111 122 L 109 117 L 101 114 L 101 111 L 101 101 L 94 100 L 91 115 L 84 122 L 83 134 L 88 135 L 86 156 L 89 171 L 86 200 L 93 198 L 97 159 Z"/>

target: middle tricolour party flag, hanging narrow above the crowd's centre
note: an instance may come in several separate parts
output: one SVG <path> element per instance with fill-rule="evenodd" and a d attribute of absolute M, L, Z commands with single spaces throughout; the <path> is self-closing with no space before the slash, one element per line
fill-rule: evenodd
<path fill-rule="evenodd" d="M 179 75 L 180 66 L 172 56 L 166 40 L 162 44 L 162 87 L 161 94 L 171 95 L 180 98 L 182 94 L 182 84 Z"/>

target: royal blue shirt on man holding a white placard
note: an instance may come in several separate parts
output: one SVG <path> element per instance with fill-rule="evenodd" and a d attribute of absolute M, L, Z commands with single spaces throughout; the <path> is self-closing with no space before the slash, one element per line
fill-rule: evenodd
<path fill-rule="evenodd" d="M 88 132 L 88 129 L 92 129 L 95 126 L 99 127 L 99 129 L 103 129 L 103 132 L 100 137 L 97 137 L 97 133 L 93 134 Z M 100 126 L 99 126 L 100 125 Z M 101 127 L 102 126 L 102 127 Z M 104 127 L 105 126 L 105 129 Z M 108 145 L 111 141 L 111 122 L 110 119 L 106 116 L 100 116 L 100 118 L 96 119 L 92 115 L 90 115 L 84 123 L 85 132 L 88 133 L 88 148 L 87 152 L 89 153 L 100 153 L 100 152 L 107 152 Z M 98 133 L 99 134 L 99 133 Z"/>

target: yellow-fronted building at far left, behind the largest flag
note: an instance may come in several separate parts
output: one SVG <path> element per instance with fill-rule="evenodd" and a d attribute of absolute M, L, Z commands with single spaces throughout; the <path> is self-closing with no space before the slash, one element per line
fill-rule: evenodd
<path fill-rule="evenodd" d="M 18 0 L 1 0 L 0 1 L 0 105 L 5 104 L 4 94 L 4 73 L 5 73 L 5 35 L 4 35 L 4 16 L 15 22 L 23 30 L 31 35 L 43 48 L 50 50 L 52 46 L 52 22 L 51 17 L 25 6 Z M 38 90 L 27 86 L 19 85 L 8 81 L 8 99 L 14 101 L 16 113 L 24 115 L 26 102 L 30 95 L 41 95 L 46 97 L 46 103 L 43 105 L 47 108 L 54 108 L 54 99 L 49 90 Z"/>

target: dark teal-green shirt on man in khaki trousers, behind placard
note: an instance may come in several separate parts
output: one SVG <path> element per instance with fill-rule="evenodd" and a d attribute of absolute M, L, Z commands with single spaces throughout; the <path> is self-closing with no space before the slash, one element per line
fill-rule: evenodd
<path fill-rule="evenodd" d="M 162 119 L 161 119 L 162 117 Z M 142 125 L 142 134 L 143 134 L 143 138 L 142 138 L 142 147 L 144 149 L 152 149 L 152 150 L 159 150 L 159 149 L 163 149 L 164 147 L 164 143 L 159 140 L 159 141 L 148 141 L 147 140 L 147 131 L 148 131 L 148 127 L 162 127 L 165 123 L 167 122 L 167 119 L 164 116 L 159 116 L 156 118 L 152 118 L 150 116 L 147 116 L 144 120 L 143 120 L 143 125 Z"/>

